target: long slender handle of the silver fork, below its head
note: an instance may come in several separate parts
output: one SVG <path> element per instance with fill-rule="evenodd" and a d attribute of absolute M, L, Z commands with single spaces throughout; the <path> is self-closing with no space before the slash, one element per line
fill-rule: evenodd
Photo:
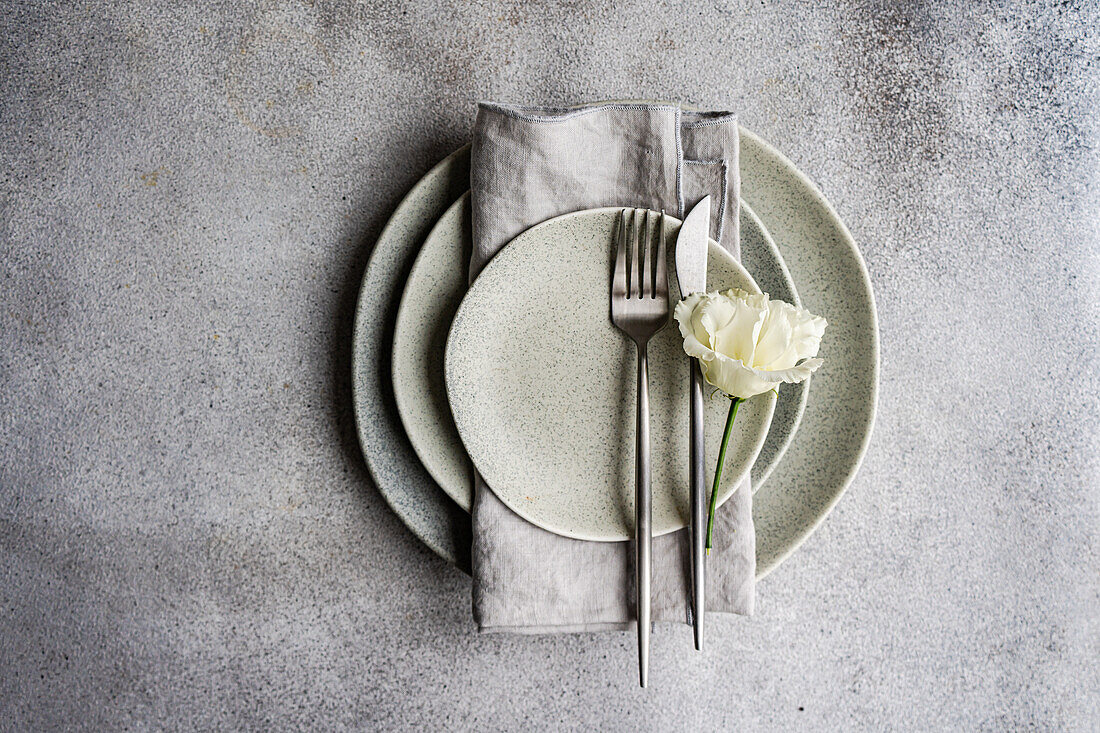
<path fill-rule="evenodd" d="M 635 462 L 635 589 L 638 610 L 638 681 L 649 682 L 650 559 L 652 555 L 652 503 L 649 491 L 649 358 L 647 344 L 638 344 L 638 425 Z"/>

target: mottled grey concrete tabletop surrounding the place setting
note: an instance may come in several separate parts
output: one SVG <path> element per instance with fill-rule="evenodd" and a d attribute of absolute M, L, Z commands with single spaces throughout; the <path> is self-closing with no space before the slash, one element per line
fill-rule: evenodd
<path fill-rule="evenodd" d="M 1100 8 L 7 2 L 0 726 L 1100 726 Z M 479 636 L 363 466 L 371 247 L 474 101 L 739 110 L 867 256 L 847 496 L 716 619 Z"/>

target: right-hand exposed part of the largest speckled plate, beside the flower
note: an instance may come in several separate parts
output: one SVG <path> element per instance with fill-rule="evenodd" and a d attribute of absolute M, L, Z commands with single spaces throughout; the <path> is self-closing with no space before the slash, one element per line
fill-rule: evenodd
<path fill-rule="evenodd" d="M 803 305 L 828 319 L 799 433 L 756 495 L 757 573 L 782 562 L 822 523 L 867 451 L 879 390 L 879 325 L 864 258 L 817 187 L 741 129 L 741 197 L 783 253 Z"/>

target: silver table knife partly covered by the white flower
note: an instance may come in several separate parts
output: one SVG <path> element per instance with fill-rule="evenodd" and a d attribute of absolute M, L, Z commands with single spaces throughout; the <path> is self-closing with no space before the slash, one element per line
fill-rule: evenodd
<path fill-rule="evenodd" d="M 680 297 L 706 292 L 706 248 L 711 232 L 711 197 L 706 196 L 688 214 L 676 237 L 676 280 Z M 703 375 L 690 358 L 691 370 L 691 567 L 692 620 L 695 648 L 703 648 L 703 617 L 706 610 L 706 471 L 703 467 Z"/>

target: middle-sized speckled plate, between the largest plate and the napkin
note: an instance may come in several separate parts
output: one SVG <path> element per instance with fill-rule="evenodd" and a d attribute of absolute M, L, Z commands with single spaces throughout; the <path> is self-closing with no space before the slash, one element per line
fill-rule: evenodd
<path fill-rule="evenodd" d="M 799 304 L 791 275 L 757 216 L 741 207 L 741 262 L 767 293 Z M 417 255 L 402 295 L 394 329 L 393 384 L 397 411 L 414 450 L 447 495 L 469 511 L 472 500 L 466 456 L 447 403 L 443 346 L 462 296 L 470 259 L 470 196 L 439 219 Z M 752 464 L 758 491 L 790 445 L 805 407 L 809 382 L 784 385 L 760 455 Z"/>

